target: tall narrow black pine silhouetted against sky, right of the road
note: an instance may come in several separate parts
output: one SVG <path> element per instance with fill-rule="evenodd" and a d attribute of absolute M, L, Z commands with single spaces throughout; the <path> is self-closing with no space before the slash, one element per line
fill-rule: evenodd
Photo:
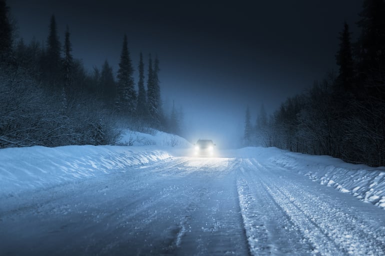
<path fill-rule="evenodd" d="M 349 26 L 345 22 L 343 31 L 339 33 L 339 50 L 335 55 L 336 64 L 339 66 L 338 84 L 344 92 L 351 91 L 353 79 L 353 57 L 350 44 Z"/>

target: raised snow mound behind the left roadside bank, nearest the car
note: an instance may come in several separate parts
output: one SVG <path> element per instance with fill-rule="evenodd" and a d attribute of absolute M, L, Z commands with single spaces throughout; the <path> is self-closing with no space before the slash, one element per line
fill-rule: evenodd
<path fill-rule="evenodd" d="M 150 134 L 126 130 L 122 133 L 122 137 L 117 144 L 124 146 L 158 145 L 176 148 L 191 147 L 191 143 L 177 135 L 152 129 L 149 132 Z"/>

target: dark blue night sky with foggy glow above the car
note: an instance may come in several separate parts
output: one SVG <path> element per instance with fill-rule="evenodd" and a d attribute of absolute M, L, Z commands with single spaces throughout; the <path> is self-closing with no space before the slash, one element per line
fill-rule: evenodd
<path fill-rule="evenodd" d="M 336 69 L 343 22 L 353 38 L 360 0 L 142 1 L 7 0 L 25 42 L 45 41 L 51 14 L 68 25 L 73 55 L 91 71 L 117 70 L 123 34 L 135 67 L 157 54 L 164 109 L 183 108 L 186 137 L 235 145 L 246 105 L 253 122 Z M 137 74 L 135 73 L 135 81 Z M 232 142 L 230 142 L 232 139 Z"/>

